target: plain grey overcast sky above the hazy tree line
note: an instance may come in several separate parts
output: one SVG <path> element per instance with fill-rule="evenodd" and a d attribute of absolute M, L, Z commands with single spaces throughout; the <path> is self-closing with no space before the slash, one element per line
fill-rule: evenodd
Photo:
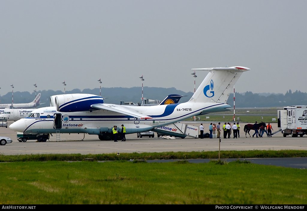
<path fill-rule="evenodd" d="M 244 66 L 242 93 L 307 92 L 307 1 L 0 1 L 0 95 L 194 91 L 192 68 Z M 196 88 L 208 72 L 196 72 Z M 176 93 L 167 93 L 176 94 Z M 103 96 L 103 94 L 102 94 Z"/>

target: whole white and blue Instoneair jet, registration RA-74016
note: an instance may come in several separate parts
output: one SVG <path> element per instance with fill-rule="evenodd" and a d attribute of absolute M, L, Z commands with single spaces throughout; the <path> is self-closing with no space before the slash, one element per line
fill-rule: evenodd
<path fill-rule="evenodd" d="M 209 71 L 192 98 L 185 103 L 129 106 L 103 103 L 93 94 L 60 94 L 50 97 L 50 107 L 39 108 L 10 125 L 18 132 L 96 134 L 100 140 L 111 140 L 113 125 L 124 125 L 126 134 L 146 132 L 188 117 L 226 111 L 232 87 L 247 67 L 192 69 Z M 45 141 L 45 140 L 44 140 Z"/>

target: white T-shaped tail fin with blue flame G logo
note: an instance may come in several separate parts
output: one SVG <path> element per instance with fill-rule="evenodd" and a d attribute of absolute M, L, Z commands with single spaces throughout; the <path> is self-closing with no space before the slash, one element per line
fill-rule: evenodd
<path fill-rule="evenodd" d="M 226 103 L 232 87 L 247 67 L 214 67 L 192 70 L 209 71 L 189 101 Z"/>

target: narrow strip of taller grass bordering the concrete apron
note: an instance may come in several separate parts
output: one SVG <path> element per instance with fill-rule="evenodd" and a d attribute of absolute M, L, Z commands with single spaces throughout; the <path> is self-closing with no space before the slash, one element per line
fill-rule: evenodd
<path fill-rule="evenodd" d="M 155 159 L 216 159 L 218 151 L 202 152 L 153 152 L 153 153 L 120 153 L 114 154 L 31 154 L 31 155 L 0 155 L 0 162 L 25 162 L 25 161 L 95 161 L 106 160 L 155 160 Z M 221 151 L 220 158 L 292 158 L 307 157 L 306 150 L 248 150 L 248 151 Z"/>

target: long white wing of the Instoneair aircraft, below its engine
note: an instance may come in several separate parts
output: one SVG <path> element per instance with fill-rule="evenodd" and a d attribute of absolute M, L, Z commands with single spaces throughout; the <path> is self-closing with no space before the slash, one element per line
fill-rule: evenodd
<path fill-rule="evenodd" d="M 127 106 L 122 106 L 122 105 L 115 105 L 115 104 L 94 104 L 91 105 L 92 108 L 95 109 L 104 109 L 104 110 L 108 110 L 108 111 L 114 111 L 117 113 L 122 113 L 122 114 L 126 114 L 126 115 L 130 115 L 133 117 L 138 117 L 140 119 L 151 119 L 152 117 L 149 117 L 147 115 L 144 115 L 134 109 L 128 108 Z"/>

